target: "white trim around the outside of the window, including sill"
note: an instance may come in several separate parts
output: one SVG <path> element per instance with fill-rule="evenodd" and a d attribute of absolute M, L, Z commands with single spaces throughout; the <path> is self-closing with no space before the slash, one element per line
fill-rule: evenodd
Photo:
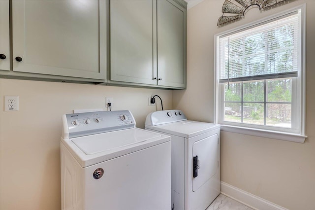
<path fill-rule="evenodd" d="M 297 132 L 284 132 L 282 129 L 275 129 L 269 130 L 267 129 L 268 127 L 264 127 L 266 129 L 260 129 L 255 126 L 240 126 L 235 125 L 233 123 L 226 123 L 221 121 L 221 113 L 222 113 L 222 103 L 223 103 L 223 95 L 220 90 L 224 90 L 223 88 L 220 88 L 220 83 L 219 83 L 219 55 L 217 56 L 217 50 L 219 47 L 219 38 L 222 36 L 229 35 L 231 33 L 236 33 L 239 31 L 246 30 L 247 28 L 254 27 L 255 25 L 261 25 L 264 22 L 271 21 L 272 19 L 277 19 L 282 16 L 286 16 L 290 13 L 293 12 L 298 12 L 300 18 L 301 18 L 301 49 L 300 50 L 300 55 L 301 59 L 298 61 L 300 62 L 300 72 L 298 77 L 296 78 L 296 82 L 294 82 L 294 85 L 297 85 L 299 88 L 292 88 L 292 91 L 298 91 L 295 96 L 297 97 L 297 100 L 294 100 L 295 102 L 300 101 L 301 103 L 293 103 L 292 102 L 292 108 L 293 104 L 295 104 L 296 107 L 296 116 L 292 116 L 296 118 L 296 128 L 298 129 Z M 265 17 L 263 19 L 260 19 L 258 21 L 254 21 L 252 23 L 222 32 L 220 34 L 215 35 L 214 40 L 215 40 L 215 53 L 214 53 L 214 61 L 215 61 L 215 72 L 214 72 L 214 95 L 215 95 L 215 102 L 214 102 L 214 122 L 221 124 L 221 130 L 222 131 L 228 131 L 232 133 L 240 133 L 240 134 L 247 134 L 247 135 L 252 135 L 252 136 L 257 136 L 257 137 L 265 137 L 265 138 L 271 138 L 271 139 L 277 139 L 277 140 L 287 140 L 287 141 L 294 141 L 294 142 L 299 142 L 299 143 L 304 143 L 305 139 L 307 136 L 305 135 L 305 88 L 306 88 L 306 80 L 305 80 L 305 62 L 306 62 L 306 45 L 305 45 L 305 36 L 306 36 L 306 3 L 301 4 L 299 6 L 290 8 L 288 10 L 285 10 L 283 12 Z M 293 83 L 293 80 L 292 80 Z M 292 84 L 293 85 L 293 84 Z M 300 93 L 300 94 L 299 94 Z M 293 100 L 292 100 L 293 101 Z M 295 106 L 294 105 L 294 106 Z"/>

